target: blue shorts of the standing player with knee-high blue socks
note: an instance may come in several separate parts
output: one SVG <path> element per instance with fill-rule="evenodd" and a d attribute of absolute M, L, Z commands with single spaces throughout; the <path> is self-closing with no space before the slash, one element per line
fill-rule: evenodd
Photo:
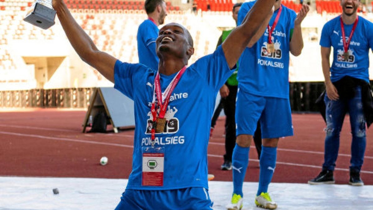
<path fill-rule="evenodd" d="M 254 135 L 258 120 L 263 139 L 293 135 L 289 99 L 252 95 L 238 91 L 236 135 Z"/>

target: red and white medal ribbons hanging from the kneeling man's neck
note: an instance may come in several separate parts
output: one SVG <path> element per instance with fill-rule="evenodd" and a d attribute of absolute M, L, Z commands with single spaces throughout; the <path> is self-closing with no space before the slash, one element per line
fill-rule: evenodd
<path fill-rule="evenodd" d="M 154 88 L 156 90 L 158 106 L 160 108 L 159 118 L 164 118 L 164 115 L 166 114 L 166 111 L 167 111 L 167 105 L 170 101 L 172 91 L 173 91 L 173 89 L 175 89 L 176 85 L 179 83 L 179 80 L 180 80 L 181 76 L 184 74 L 185 70 L 186 70 L 186 66 L 184 66 L 178 72 L 178 74 L 176 74 L 175 78 L 171 82 L 171 86 L 167 87 L 167 89 L 165 91 L 165 93 L 167 95 L 166 95 L 166 98 L 164 99 L 163 104 L 162 104 L 162 90 L 161 90 L 161 85 L 160 85 L 160 81 L 159 81 L 159 72 L 157 72 L 156 78 L 154 78 L 154 86 L 155 86 Z M 156 109 L 155 101 L 153 101 L 151 103 L 151 115 L 153 117 L 153 121 L 156 121 L 157 120 L 157 109 Z M 156 133 L 156 130 L 155 130 L 154 125 L 153 125 L 152 129 L 151 129 L 151 139 L 152 140 L 155 139 L 155 133 Z"/>

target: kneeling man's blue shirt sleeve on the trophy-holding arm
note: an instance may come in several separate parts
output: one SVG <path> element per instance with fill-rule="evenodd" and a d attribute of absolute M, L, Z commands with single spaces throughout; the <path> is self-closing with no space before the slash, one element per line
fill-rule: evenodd
<path fill-rule="evenodd" d="M 129 64 L 117 60 L 114 66 L 114 88 L 133 100 L 137 77 L 144 75 L 146 68 L 141 64 Z"/>

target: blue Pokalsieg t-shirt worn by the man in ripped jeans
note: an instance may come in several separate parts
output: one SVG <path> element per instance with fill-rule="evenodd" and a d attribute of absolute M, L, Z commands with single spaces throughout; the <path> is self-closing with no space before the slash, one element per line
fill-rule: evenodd
<path fill-rule="evenodd" d="M 328 21 L 321 32 L 320 45 L 333 46 L 333 64 L 330 67 L 332 82 L 344 76 L 365 80 L 369 83 L 369 48 L 373 49 L 373 24 L 359 16 L 354 34 L 352 34 L 348 60 L 343 56 L 343 40 L 340 16 Z M 354 24 L 346 25 L 345 37 L 348 40 Z"/>

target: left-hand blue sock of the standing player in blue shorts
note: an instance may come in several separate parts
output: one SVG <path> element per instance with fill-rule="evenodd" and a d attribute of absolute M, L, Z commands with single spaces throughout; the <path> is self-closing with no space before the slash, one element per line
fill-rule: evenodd
<path fill-rule="evenodd" d="M 241 195 L 241 197 L 244 197 L 242 185 L 249 164 L 249 150 L 250 147 L 241 147 L 236 144 L 232 154 L 233 193 Z"/>

